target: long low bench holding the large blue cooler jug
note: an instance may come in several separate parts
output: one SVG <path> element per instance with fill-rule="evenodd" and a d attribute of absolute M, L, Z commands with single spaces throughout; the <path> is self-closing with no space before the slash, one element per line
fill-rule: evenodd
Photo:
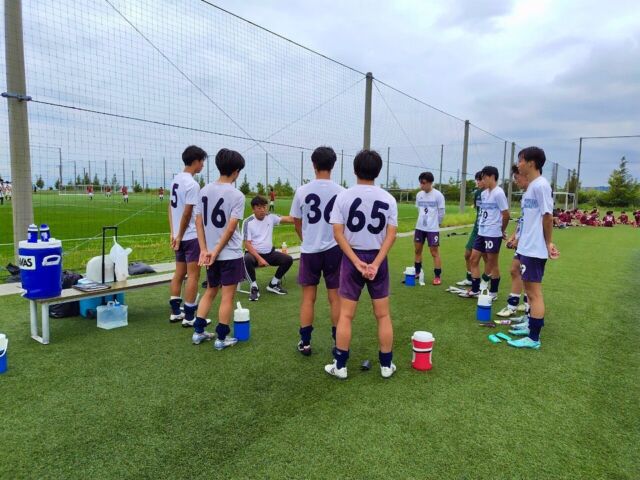
<path fill-rule="evenodd" d="M 49 343 L 49 305 L 55 303 L 77 302 L 78 300 L 104 297 L 105 295 L 124 293 L 129 290 L 136 290 L 139 288 L 155 287 L 158 285 L 170 283 L 172 278 L 173 273 L 151 275 L 148 277 L 134 277 L 129 278 L 124 282 L 110 283 L 110 289 L 100 290 L 99 292 L 81 292 L 80 290 L 76 290 L 75 288 L 67 288 L 64 289 L 58 297 L 29 300 L 29 310 L 31 317 L 31 338 L 33 338 L 37 342 L 42 343 L 43 345 L 47 345 Z M 38 306 L 41 307 L 42 336 L 38 335 Z"/>

